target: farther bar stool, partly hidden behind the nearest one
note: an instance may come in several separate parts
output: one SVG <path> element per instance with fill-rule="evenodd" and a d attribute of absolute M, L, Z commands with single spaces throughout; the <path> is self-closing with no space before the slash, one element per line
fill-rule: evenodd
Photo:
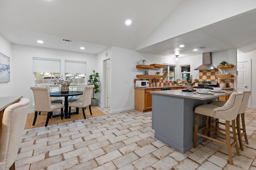
<path fill-rule="evenodd" d="M 242 92 L 243 92 L 244 96 L 243 96 L 243 99 L 242 99 L 242 102 L 241 102 L 241 105 L 240 105 L 240 108 L 238 111 L 238 115 L 236 117 L 236 129 L 237 129 L 237 135 L 238 135 L 240 149 L 244 150 L 244 146 L 242 143 L 242 137 L 244 137 L 246 144 L 249 144 L 248 138 L 246 135 L 246 129 L 245 129 L 244 113 L 246 111 L 246 107 L 247 107 L 247 104 L 248 104 L 248 101 L 249 101 L 249 98 L 251 95 L 251 90 L 244 90 Z M 215 102 L 211 102 L 210 104 L 213 104 L 216 106 L 224 106 L 225 103 L 226 103 L 225 101 L 215 101 Z M 241 125 L 240 125 L 240 115 L 242 118 L 242 129 L 241 129 Z M 218 123 L 220 123 L 220 122 L 218 122 Z M 220 123 L 220 124 L 224 124 L 224 123 Z M 243 131 L 242 133 L 241 133 L 241 130 Z"/>

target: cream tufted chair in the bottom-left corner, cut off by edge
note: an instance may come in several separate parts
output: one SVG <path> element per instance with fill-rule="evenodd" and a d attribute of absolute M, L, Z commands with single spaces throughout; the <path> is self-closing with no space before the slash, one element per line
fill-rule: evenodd
<path fill-rule="evenodd" d="M 26 124 L 30 100 L 22 98 L 4 110 L 0 137 L 0 170 L 15 170 L 15 160 Z"/>

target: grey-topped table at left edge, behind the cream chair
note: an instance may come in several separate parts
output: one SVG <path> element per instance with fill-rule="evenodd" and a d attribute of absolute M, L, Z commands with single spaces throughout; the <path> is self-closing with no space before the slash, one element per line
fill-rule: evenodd
<path fill-rule="evenodd" d="M 0 97 L 0 138 L 2 135 L 2 119 L 4 114 L 4 109 L 6 107 L 20 102 L 20 99 L 23 98 L 23 96 L 7 96 L 7 97 Z"/>

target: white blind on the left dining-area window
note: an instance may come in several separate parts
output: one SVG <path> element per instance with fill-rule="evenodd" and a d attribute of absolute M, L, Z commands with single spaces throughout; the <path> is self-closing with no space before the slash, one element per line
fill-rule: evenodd
<path fill-rule="evenodd" d="M 60 59 L 33 57 L 33 72 L 60 72 Z"/>

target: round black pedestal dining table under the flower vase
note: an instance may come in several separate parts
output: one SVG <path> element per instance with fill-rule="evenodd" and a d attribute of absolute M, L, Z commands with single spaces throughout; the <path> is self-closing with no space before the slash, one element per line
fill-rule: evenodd
<path fill-rule="evenodd" d="M 65 92 L 50 92 L 50 96 L 51 97 L 64 97 L 64 117 L 65 119 L 67 118 L 70 118 L 70 115 L 68 114 L 68 101 L 71 99 L 71 98 L 68 98 L 69 96 L 79 96 L 79 95 L 82 95 L 83 92 L 82 91 L 69 91 L 68 93 Z M 77 113 L 77 112 L 74 112 L 74 113 Z M 55 117 L 55 116 L 58 116 L 58 115 L 52 115 L 52 117 Z"/>

